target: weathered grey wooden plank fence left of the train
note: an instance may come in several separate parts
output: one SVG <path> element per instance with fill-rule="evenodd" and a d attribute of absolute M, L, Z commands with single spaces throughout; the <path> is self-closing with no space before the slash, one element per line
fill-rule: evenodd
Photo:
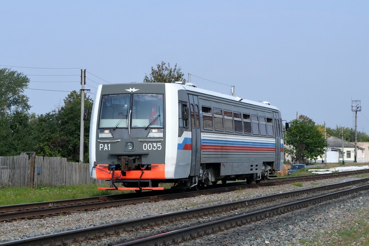
<path fill-rule="evenodd" d="M 108 184 L 91 179 L 90 171 L 88 163 L 67 162 L 62 157 L 0 156 L 0 188 Z"/>

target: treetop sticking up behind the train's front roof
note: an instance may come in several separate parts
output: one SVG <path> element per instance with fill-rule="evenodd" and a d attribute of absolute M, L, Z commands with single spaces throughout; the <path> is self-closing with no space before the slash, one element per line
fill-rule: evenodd
<path fill-rule="evenodd" d="M 174 68 L 170 67 L 168 62 L 168 66 L 165 62 L 161 62 L 156 64 L 156 69 L 151 67 L 150 77 L 148 77 L 145 73 L 144 82 L 145 83 L 174 83 L 176 81 L 186 82 L 183 78 L 184 74 L 181 72 L 181 67 L 177 68 L 177 63 L 174 65 Z"/>

